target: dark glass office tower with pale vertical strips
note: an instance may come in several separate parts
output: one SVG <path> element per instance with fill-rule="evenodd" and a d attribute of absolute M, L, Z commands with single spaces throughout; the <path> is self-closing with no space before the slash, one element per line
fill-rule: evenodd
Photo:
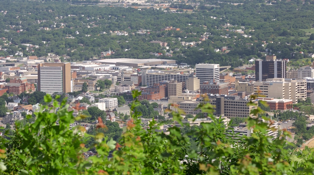
<path fill-rule="evenodd" d="M 266 61 L 255 61 L 255 81 L 268 78 L 286 78 L 287 65 L 284 60 L 276 60 L 276 56 L 266 56 Z"/>

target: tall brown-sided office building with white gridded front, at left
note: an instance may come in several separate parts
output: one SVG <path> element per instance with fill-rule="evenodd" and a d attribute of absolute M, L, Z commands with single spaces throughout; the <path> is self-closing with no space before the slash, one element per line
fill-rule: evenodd
<path fill-rule="evenodd" d="M 71 92 L 70 63 L 38 64 L 38 91 L 48 94 Z"/>

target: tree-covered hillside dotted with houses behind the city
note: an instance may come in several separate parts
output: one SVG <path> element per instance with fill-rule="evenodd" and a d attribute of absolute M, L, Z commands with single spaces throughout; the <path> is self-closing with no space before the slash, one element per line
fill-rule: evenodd
<path fill-rule="evenodd" d="M 188 64 L 236 67 L 242 64 L 239 59 L 248 63 L 265 54 L 301 59 L 314 53 L 314 1 L 310 0 L 171 4 L 178 13 L 169 8 L 139 10 L 99 7 L 96 3 L 4 0 L 0 7 L 0 56 L 53 53 L 76 61 L 99 58 L 101 52 L 111 50 L 113 54 L 106 58 L 159 55 Z M 179 10 L 185 7 L 194 10 Z M 167 27 L 180 30 L 162 30 Z"/>

